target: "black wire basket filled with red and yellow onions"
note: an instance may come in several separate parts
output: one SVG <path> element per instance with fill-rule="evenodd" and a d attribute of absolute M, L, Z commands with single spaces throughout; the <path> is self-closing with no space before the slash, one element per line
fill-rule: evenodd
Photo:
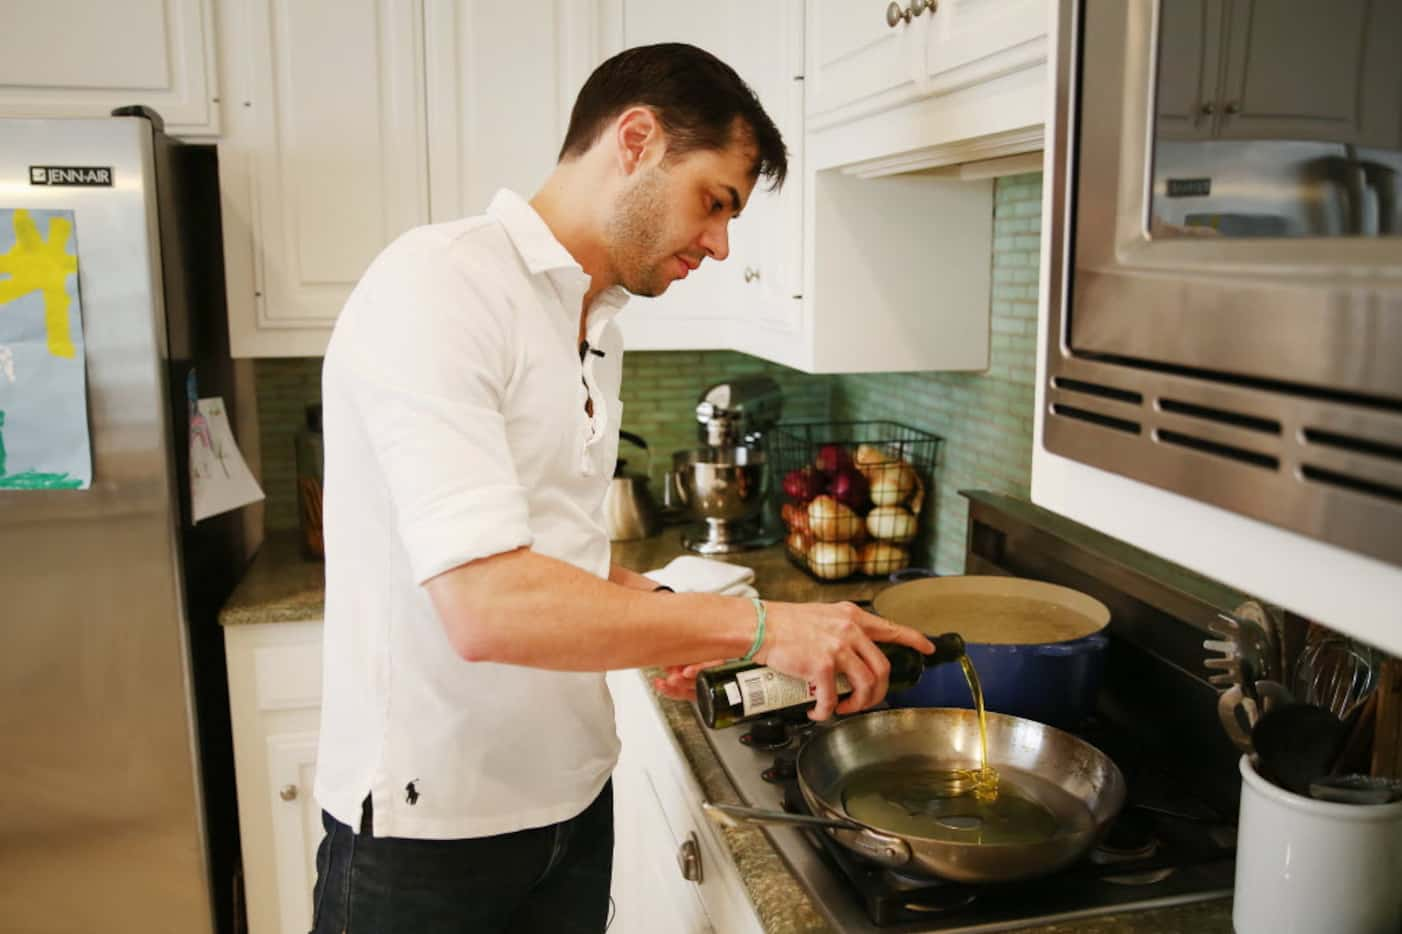
<path fill-rule="evenodd" d="M 899 422 L 794 422 L 768 438 L 789 560 L 819 581 L 885 578 L 927 541 L 944 439 Z"/>

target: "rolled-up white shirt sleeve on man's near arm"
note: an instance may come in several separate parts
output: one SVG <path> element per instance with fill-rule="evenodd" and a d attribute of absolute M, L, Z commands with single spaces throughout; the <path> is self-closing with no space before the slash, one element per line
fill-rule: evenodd
<path fill-rule="evenodd" d="M 324 401 L 360 429 L 415 582 L 530 546 L 527 495 L 502 417 L 515 359 L 505 299 L 446 257 L 391 251 L 342 317 Z"/>

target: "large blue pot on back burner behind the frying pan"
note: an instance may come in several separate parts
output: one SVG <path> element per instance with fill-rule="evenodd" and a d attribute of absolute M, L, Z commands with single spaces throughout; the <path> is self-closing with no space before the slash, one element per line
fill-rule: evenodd
<path fill-rule="evenodd" d="M 924 578 L 886 588 L 872 610 L 927 635 L 963 635 L 991 711 L 1068 728 L 1095 708 L 1110 611 L 1085 593 L 1022 578 Z M 928 669 L 916 687 L 887 700 L 972 707 L 963 672 L 939 668 L 948 670 Z"/>

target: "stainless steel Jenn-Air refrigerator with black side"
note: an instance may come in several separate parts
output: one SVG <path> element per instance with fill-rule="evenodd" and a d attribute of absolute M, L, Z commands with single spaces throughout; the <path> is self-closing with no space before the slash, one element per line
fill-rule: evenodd
<path fill-rule="evenodd" d="M 0 209 L 73 212 L 93 464 L 0 489 L 0 930 L 231 931 L 216 614 L 244 547 L 237 513 L 191 526 L 184 388 L 240 404 L 216 154 L 143 108 L 0 119 Z"/>

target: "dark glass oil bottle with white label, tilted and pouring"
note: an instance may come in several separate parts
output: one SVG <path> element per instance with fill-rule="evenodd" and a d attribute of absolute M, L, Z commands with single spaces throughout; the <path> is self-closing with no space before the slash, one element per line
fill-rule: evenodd
<path fill-rule="evenodd" d="M 963 637 L 958 632 L 932 635 L 930 641 L 935 644 L 935 651 L 930 655 L 896 642 L 876 644 L 890 661 L 890 690 L 911 689 L 931 665 L 958 662 L 965 655 Z M 838 697 L 851 693 L 851 684 L 838 675 Z M 697 675 L 697 710 L 701 711 L 701 721 L 711 729 L 723 729 L 746 719 L 812 707 L 816 703 L 813 687 L 802 677 L 781 675 L 758 662 L 728 662 Z"/>

